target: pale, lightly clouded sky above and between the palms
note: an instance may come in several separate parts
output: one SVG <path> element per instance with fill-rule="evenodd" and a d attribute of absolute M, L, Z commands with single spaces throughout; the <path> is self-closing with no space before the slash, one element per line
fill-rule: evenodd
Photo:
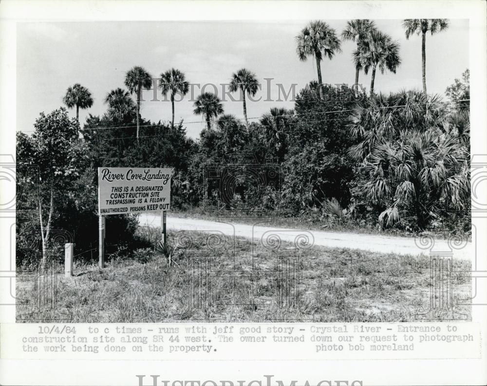
<path fill-rule="evenodd" d="M 326 20 L 341 33 L 346 20 Z M 377 27 L 400 45 L 402 64 L 396 74 L 375 77 L 375 92 L 421 89 L 421 37 L 406 39 L 399 19 L 375 20 Z M 83 125 L 88 113 L 102 115 L 105 95 L 125 88 L 125 73 L 144 67 L 154 78 L 174 67 L 186 74 L 192 91 L 175 104 L 175 122 L 184 120 L 187 135 L 197 138 L 206 126 L 193 114 L 193 102 L 202 91 L 217 92 L 225 113 L 243 118 L 239 95 L 228 93 L 232 73 L 244 67 L 262 83 L 254 101 L 247 100 L 249 121 L 256 121 L 272 107 L 293 108 L 284 98 L 296 84 L 299 92 L 317 79 L 313 58 L 301 62 L 295 37 L 307 20 L 279 21 L 144 21 L 144 22 L 24 22 L 17 28 L 17 130 L 31 132 L 39 113 L 62 106 L 66 89 L 75 83 L 87 87 L 94 105 L 80 110 Z M 353 84 L 351 60 L 356 43 L 343 41 L 342 52 L 321 62 L 324 83 Z M 455 78 L 468 68 L 468 20 L 450 19 L 446 31 L 426 39 L 426 82 L 429 93 L 443 95 Z M 370 77 L 360 73 L 359 83 L 368 90 Z M 267 79 L 267 80 L 265 80 Z M 281 98 L 279 98 L 281 84 Z M 206 86 L 205 86 L 206 85 Z M 213 86 L 214 85 L 214 86 Z M 144 92 L 141 115 L 153 122 L 171 119 L 169 99 L 159 91 Z M 233 99 L 231 100 L 231 96 Z M 281 100 L 278 100 L 281 99 Z M 70 110 L 75 116 L 75 110 Z M 143 135 L 143 134 L 141 134 Z"/>

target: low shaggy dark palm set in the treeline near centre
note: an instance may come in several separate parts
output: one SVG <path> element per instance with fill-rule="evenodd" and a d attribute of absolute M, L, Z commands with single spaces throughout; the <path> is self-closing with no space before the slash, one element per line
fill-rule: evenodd
<path fill-rule="evenodd" d="M 280 162 L 284 160 L 287 151 L 287 136 L 293 115 L 293 110 L 273 107 L 261 118 L 262 131 L 260 137 L 262 142 L 266 147 L 276 151 Z"/>

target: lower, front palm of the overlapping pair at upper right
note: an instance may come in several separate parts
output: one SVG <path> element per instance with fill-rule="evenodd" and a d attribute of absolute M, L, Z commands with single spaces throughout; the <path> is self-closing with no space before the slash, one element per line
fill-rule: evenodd
<path fill-rule="evenodd" d="M 368 74 L 372 68 L 370 82 L 370 94 L 372 95 L 377 67 L 381 74 L 384 74 L 386 69 L 395 74 L 397 67 L 401 64 L 399 43 L 381 31 L 372 30 L 368 37 L 360 42 L 358 49 L 354 51 L 354 60 L 361 64 L 365 74 Z"/>

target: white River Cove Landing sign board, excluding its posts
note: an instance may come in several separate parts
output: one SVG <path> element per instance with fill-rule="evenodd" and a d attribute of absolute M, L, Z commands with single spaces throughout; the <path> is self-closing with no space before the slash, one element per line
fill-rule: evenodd
<path fill-rule="evenodd" d="M 169 210 L 171 169 L 98 167 L 101 216 Z"/>

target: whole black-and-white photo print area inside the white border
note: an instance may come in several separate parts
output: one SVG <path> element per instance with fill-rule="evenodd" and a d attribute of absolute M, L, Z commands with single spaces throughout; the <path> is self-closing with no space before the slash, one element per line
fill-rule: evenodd
<path fill-rule="evenodd" d="M 470 319 L 468 20 L 25 23 L 17 47 L 18 322 Z"/>

